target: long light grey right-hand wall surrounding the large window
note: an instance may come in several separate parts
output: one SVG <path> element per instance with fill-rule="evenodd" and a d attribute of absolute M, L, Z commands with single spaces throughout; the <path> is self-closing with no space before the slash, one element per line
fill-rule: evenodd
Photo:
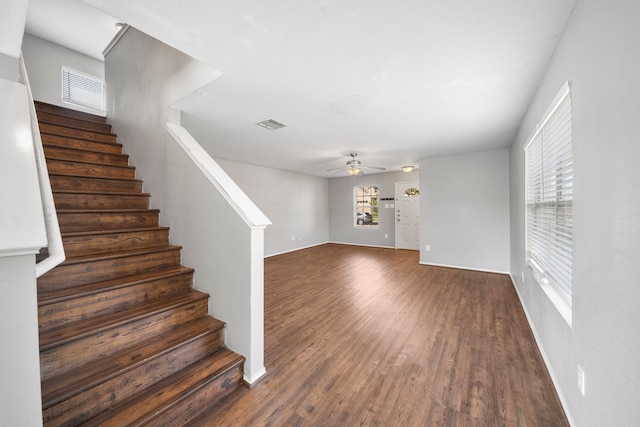
<path fill-rule="evenodd" d="M 577 426 L 640 424 L 639 17 L 636 0 L 577 3 L 511 149 L 511 273 Z M 522 148 L 566 80 L 573 81 L 573 327 L 523 255 Z"/>

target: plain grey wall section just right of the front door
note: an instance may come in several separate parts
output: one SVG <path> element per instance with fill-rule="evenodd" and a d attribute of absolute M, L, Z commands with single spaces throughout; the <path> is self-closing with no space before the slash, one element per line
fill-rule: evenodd
<path fill-rule="evenodd" d="M 508 272 L 509 149 L 425 158 L 420 171 L 420 262 Z"/>

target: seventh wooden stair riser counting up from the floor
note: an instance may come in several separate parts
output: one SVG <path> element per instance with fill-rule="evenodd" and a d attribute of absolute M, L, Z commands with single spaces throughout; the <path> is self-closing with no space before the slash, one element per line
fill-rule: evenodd
<path fill-rule="evenodd" d="M 156 227 L 158 211 L 145 212 L 99 212 L 72 213 L 58 212 L 60 231 L 118 230 L 123 228 Z"/>

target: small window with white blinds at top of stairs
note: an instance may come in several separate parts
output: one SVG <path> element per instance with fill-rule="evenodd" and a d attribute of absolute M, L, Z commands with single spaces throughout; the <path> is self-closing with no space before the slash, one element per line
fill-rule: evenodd
<path fill-rule="evenodd" d="M 104 111 L 104 80 L 62 67 L 62 100 Z"/>

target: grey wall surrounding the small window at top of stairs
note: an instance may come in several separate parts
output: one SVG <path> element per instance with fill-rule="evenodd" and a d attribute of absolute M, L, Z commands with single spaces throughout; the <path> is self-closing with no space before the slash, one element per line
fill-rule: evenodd
<path fill-rule="evenodd" d="M 104 62 L 41 39 L 24 34 L 22 44 L 24 62 L 29 73 L 29 83 L 36 101 L 60 105 L 92 114 L 103 114 L 92 108 L 62 102 L 62 66 L 104 78 Z"/>

